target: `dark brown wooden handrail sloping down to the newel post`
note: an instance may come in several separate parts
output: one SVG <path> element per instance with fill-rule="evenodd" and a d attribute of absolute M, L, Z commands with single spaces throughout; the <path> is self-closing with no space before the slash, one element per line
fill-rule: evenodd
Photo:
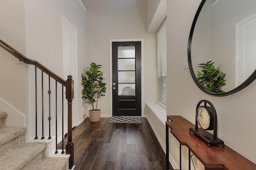
<path fill-rule="evenodd" d="M 63 78 L 61 78 L 60 76 L 58 76 L 57 74 L 55 74 L 54 72 L 52 72 L 51 70 L 46 68 L 46 66 L 44 66 L 41 63 L 39 63 L 38 61 L 32 60 L 32 59 L 28 59 L 23 54 L 18 52 L 16 49 L 14 49 L 13 47 L 8 45 L 7 43 L 2 41 L 1 39 L 0 39 L 0 46 L 3 47 L 6 51 L 11 53 L 12 55 L 14 55 L 14 57 L 17 57 L 20 61 L 22 61 L 24 63 L 27 63 L 27 64 L 32 64 L 32 65 L 40 68 L 43 72 L 45 72 L 46 74 L 48 74 L 49 76 L 51 76 L 52 78 L 57 80 L 60 84 L 62 84 L 63 86 L 66 86 L 65 80 Z"/>

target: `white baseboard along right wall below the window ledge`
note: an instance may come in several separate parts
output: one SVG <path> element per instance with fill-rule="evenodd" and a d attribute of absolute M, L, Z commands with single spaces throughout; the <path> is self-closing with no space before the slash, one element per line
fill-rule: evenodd
<path fill-rule="evenodd" d="M 147 115 L 144 115 L 144 117 L 147 118 L 148 123 L 150 124 L 152 130 L 154 131 L 154 134 L 156 135 L 156 138 L 158 139 L 158 142 L 160 143 L 162 149 L 164 150 L 164 153 L 166 154 L 166 145 L 165 145 L 164 141 L 161 139 L 160 135 L 156 131 L 156 129 L 155 129 L 153 123 L 150 121 L 149 117 Z M 170 152 L 169 152 L 169 161 L 170 161 L 170 164 L 172 165 L 172 168 L 179 169 L 178 164 L 176 164 L 176 162 L 175 162 L 174 158 L 172 157 L 172 155 L 170 154 Z"/>

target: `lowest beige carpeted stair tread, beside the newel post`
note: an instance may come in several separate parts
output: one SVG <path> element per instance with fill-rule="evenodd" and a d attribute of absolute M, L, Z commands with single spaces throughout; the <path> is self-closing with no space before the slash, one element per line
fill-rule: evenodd
<path fill-rule="evenodd" d="M 58 158 L 45 158 L 28 168 L 22 170 L 66 170 L 66 164 L 68 163 L 68 158 L 58 157 Z"/>

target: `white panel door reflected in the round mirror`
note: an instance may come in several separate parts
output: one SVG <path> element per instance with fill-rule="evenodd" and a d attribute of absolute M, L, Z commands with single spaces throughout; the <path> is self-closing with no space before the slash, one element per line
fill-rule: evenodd
<path fill-rule="evenodd" d="M 248 18 L 237 28 L 236 87 L 242 84 L 256 68 L 256 17 Z"/>

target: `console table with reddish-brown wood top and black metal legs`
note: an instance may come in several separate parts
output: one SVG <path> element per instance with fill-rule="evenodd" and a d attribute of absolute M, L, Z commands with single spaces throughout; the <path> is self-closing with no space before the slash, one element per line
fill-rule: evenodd
<path fill-rule="evenodd" d="M 170 120 L 170 121 L 169 121 Z M 170 132 L 180 143 L 180 170 L 181 170 L 181 145 L 189 149 L 189 170 L 190 151 L 202 162 L 205 170 L 256 170 L 256 164 L 238 154 L 228 146 L 208 147 L 204 141 L 189 131 L 195 127 L 182 116 L 168 115 L 166 121 L 166 170 L 169 170 L 169 128 Z"/>

